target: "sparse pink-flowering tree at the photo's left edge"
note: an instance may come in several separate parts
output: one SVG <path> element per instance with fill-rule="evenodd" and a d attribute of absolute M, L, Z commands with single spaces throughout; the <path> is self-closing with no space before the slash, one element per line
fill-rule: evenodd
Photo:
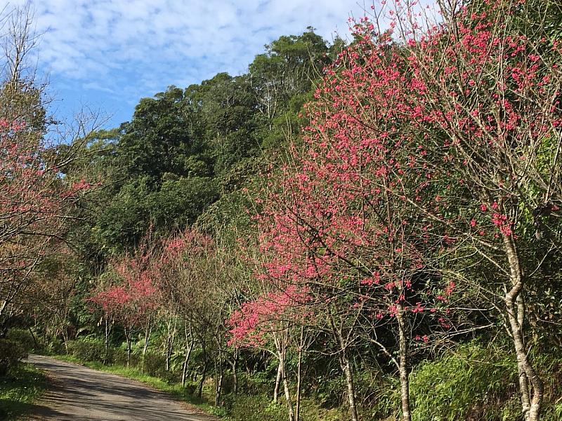
<path fill-rule="evenodd" d="M 91 187 L 67 180 L 46 147 L 43 90 L 27 68 L 37 42 L 26 10 L 4 16 L 0 66 L 0 326 L 21 311 L 41 262 L 63 241 L 75 205 Z"/>

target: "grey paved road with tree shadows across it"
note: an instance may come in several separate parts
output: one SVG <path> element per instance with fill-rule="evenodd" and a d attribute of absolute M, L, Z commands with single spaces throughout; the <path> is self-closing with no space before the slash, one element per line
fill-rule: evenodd
<path fill-rule="evenodd" d="M 51 387 L 30 420 L 44 421 L 214 421 L 166 394 L 133 380 L 44 356 L 28 362 L 47 370 Z"/>

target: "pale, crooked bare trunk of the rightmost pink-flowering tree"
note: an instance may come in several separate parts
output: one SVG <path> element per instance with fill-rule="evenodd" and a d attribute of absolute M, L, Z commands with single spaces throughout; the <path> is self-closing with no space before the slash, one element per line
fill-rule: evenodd
<path fill-rule="evenodd" d="M 542 407 L 543 385 L 537 371 L 530 363 L 528 349 L 525 346 L 523 325 L 525 323 L 525 306 L 521 293 L 523 291 L 523 271 L 515 243 L 511 236 L 504 236 L 504 249 L 509 262 L 511 289 L 505 295 L 509 333 L 514 342 L 519 372 L 519 389 L 521 408 L 525 421 L 539 421 Z M 529 389 L 532 387 L 532 394 Z"/>

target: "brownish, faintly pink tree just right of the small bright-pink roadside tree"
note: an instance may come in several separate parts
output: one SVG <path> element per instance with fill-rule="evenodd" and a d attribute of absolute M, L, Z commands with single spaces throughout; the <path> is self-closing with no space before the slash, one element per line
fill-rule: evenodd
<path fill-rule="evenodd" d="M 233 368 L 236 379 L 236 357 L 226 345 L 226 318 L 233 300 L 226 271 L 228 256 L 221 254 L 211 236 L 194 227 L 162 239 L 160 249 L 162 303 L 185 326 L 183 379 L 197 340 L 204 360 L 197 394 L 201 396 L 212 364 L 215 404 L 221 405 L 227 364 Z"/>

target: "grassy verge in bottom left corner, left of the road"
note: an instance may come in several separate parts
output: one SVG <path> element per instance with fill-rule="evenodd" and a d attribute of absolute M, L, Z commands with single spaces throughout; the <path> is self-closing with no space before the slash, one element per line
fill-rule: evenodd
<path fill-rule="evenodd" d="M 46 385 L 45 374 L 30 364 L 11 368 L 0 377 L 0 420 L 15 420 L 28 412 Z"/>

